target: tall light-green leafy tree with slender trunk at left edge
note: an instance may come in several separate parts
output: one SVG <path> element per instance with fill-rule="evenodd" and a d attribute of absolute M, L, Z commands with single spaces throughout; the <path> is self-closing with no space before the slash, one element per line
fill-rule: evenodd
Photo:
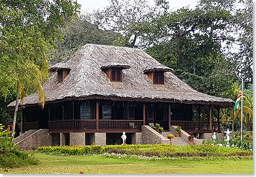
<path fill-rule="evenodd" d="M 0 1 L 1 96 L 16 92 L 13 136 L 19 98 L 36 91 L 44 107 L 41 83 L 48 77 L 48 53 L 62 36 L 59 25 L 76 14 L 76 1 Z M 7 78 L 7 79 L 5 79 Z"/>

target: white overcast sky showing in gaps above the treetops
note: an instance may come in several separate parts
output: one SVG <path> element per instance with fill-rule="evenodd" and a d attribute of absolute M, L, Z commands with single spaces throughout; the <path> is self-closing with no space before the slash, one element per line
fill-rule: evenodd
<path fill-rule="evenodd" d="M 150 0 L 153 1 L 153 0 Z M 169 2 L 170 9 L 179 9 L 189 5 L 191 8 L 196 6 L 198 0 L 167 0 Z M 103 9 L 109 2 L 108 0 L 77 0 L 78 4 L 81 4 L 81 12 L 92 12 L 93 10 Z M 154 1 L 153 1 L 154 2 Z"/>

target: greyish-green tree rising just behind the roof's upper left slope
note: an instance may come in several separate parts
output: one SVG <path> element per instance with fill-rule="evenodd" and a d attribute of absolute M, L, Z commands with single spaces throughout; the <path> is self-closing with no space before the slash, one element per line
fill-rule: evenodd
<path fill-rule="evenodd" d="M 63 40 L 56 42 L 48 60 L 50 66 L 57 62 L 68 61 L 72 54 L 87 43 L 112 45 L 114 40 L 121 36 L 111 30 L 99 29 L 95 24 L 90 24 L 83 15 L 66 23 L 60 31 Z"/>

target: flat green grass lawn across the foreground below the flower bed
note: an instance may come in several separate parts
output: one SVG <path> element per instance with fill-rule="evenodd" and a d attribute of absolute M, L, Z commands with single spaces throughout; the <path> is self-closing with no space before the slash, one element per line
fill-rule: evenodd
<path fill-rule="evenodd" d="M 164 159 L 136 160 L 116 159 L 101 155 L 95 156 L 60 156 L 35 153 L 40 160 L 40 165 L 26 166 L 20 168 L 4 169 L 0 167 L 1 173 L 253 173 L 253 160 L 186 160 L 186 159 Z"/>

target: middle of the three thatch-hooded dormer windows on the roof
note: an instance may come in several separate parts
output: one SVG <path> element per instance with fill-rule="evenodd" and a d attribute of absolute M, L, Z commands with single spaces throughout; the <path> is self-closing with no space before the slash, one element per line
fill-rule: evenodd
<path fill-rule="evenodd" d="M 106 66 L 102 66 L 101 69 L 107 74 L 109 80 L 113 82 L 121 82 L 122 79 L 122 70 L 128 69 L 130 66 L 120 64 L 118 62 L 112 62 Z"/>

